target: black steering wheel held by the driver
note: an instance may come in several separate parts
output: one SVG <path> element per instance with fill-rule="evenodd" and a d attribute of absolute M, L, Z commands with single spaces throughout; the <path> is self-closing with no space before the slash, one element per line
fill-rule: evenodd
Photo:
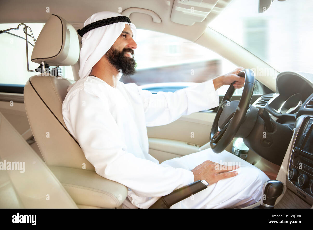
<path fill-rule="evenodd" d="M 238 76 L 244 77 L 244 89 L 239 101 L 230 101 L 235 91 L 234 81 L 230 84 L 221 104 L 218 107 L 213 121 L 210 146 L 215 153 L 220 153 L 233 140 L 240 125 L 244 122 L 245 115 L 250 106 L 251 97 L 254 90 L 254 72 L 251 69 L 244 69 Z M 250 107 L 249 107 L 250 106 Z"/>

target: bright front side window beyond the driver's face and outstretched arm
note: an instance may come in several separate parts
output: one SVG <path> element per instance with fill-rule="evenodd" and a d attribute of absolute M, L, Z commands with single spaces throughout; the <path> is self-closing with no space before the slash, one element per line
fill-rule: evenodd
<path fill-rule="evenodd" d="M 153 93 L 175 92 L 237 68 L 203 46 L 164 33 L 137 29 L 136 43 L 136 73 L 122 76 L 121 81 L 136 83 Z M 224 95 L 227 89 L 228 86 L 221 87 L 218 93 Z M 235 94 L 241 94 L 240 90 L 236 90 Z"/>

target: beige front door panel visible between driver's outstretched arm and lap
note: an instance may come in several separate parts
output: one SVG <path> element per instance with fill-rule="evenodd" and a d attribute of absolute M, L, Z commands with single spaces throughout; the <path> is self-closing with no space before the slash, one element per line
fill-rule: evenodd
<path fill-rule="evenodd" d="M 149 153 L 162 162 L 199 151 L 209 141 L 215 115 L 197 112 L 167 125 L 147 127 Z"/>

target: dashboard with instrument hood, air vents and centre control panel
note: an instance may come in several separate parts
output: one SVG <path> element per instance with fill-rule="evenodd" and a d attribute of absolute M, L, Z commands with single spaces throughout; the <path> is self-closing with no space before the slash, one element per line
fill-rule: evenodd
<path fill-rule="evenodd" d="M 293 138 L 286 141 L 288 161 L 281 166 L 285 175 L 280 179 L 285 177 L 286 187 L 313 205 L 313 74 L 278 74 L 276 93 L 262 95 L 253 106 L 266 109 L 273 120 L 293 129 Z"/>

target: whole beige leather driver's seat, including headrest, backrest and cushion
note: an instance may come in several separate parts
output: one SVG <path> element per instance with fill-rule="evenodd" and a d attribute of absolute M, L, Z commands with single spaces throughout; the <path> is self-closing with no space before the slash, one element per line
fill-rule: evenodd
<path fill-rule="evenodd" d="M 79 49 L 74 27 L 52 14 L 38 36 L 31 59 L 50 66 L 74 65 Z M 73 83 L 49 74 L 29 78 L 24 102 L 34 138 L 46 164 L 78 207 L 120 207 L 128 188 L 99 176 L 64 124 L 62 103 Z"/>

